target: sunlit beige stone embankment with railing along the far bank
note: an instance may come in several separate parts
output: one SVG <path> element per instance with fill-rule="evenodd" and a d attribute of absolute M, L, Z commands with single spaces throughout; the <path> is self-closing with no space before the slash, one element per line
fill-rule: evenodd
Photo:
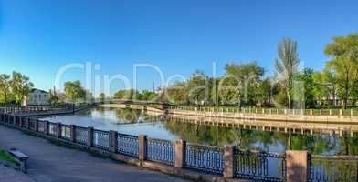
<path fill-rule="evenodd" d="M 136 105 L 101 105 L 101 107 L 143 109 Z M 186 110 L 171 107 L 161 110 L 146 106 L 148 115 L 165 115 L 170 120 L 178 122 L 205 124 L 213 126 L 227 126 L 263 131 L 280 131 L 300 134 L 336 134 L 353 136 L 358 132 L 358 116 L 330 116 L 330 115 L 301 115 L 298 111 L 281 112 L 279 110 L 250 109 L 243 112 L 234 110 L 207 111 L 205 109 Z"/>

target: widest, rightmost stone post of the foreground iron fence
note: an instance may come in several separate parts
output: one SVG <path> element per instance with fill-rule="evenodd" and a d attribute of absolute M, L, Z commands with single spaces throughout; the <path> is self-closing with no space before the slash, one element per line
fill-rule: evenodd
<path fill-rule="evenodd" d="M 307 182 L 309 175 L 308 152 L 304 150 L 286 151 L 286 181 Z"/>

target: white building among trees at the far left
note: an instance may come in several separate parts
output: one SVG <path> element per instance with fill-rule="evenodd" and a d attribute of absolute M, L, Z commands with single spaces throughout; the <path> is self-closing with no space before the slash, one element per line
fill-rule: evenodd
<path fill-rule="evenodd" d="M 33 88 L 30 91 L 30 94 L 25 98 L 25 106 L 38 106 L 38 105 L 48 105 L 49 104 L 49 93 L 44 90 Z"/>

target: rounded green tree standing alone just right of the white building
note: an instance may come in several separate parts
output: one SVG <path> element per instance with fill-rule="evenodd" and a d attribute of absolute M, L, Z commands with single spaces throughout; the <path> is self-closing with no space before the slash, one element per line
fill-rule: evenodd
<path fill-rule="evenodd" d="M 80 81 L 66 82 L 65 95 L 68 101 L 76 103 L 83 101 L 87 95 L 86 90 L 81 86 Z"/>

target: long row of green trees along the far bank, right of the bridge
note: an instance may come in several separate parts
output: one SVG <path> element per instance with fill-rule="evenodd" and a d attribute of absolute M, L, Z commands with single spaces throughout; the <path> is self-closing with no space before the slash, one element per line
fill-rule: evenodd
<path fill-rule="evenodd" d="M 355 106 L 358 100 L 357 47 L 356 33 L 332 38 L 324 49 L 329 60 L 323 70 L 315 71 L 309 67 L 300 68 L 298 43 L 284 38 L 278 45 L 273 76 L 266 76 L 266 70 L 255 61 L 228 63 L 225 74 L 220 77 L 196 71 L 189 79 L 157 93 L 120 90 L 114 97 L 198 106 L 346 108 Z"/>

